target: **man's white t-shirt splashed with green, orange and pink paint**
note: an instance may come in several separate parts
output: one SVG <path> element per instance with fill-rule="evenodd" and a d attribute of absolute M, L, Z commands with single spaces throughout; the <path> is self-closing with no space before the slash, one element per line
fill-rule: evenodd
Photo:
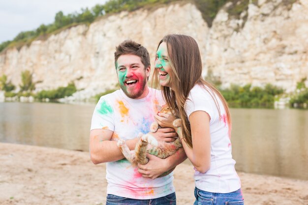
<path fill-rule="evenodd" d="M 123 90 L 102 96 L 92 116 L 92 129 L 113 131 L 111 140 L 136 138 L 138 133 L 150 132 L 154 122 L 155 104 L 162 106 L 164 100 L 160 90 L 149 88 L 143 99 L 131 99 Z M 107 163 L 107 194 L 131 199 L 155 199 L 175 192 L 173 173 L 150 179 L 138 173 L 138 167 L 126 159 Z M 99 177 L 99 176 L 98 176 Z"/>

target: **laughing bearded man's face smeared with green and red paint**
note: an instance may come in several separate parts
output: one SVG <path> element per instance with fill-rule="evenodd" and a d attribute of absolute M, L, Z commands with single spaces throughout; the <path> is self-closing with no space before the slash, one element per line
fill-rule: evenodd
<path fill-rule="evenodd" d="M 139 56 L 125 54 L 117 60 L 118 81 L 123 92 L 133 99 L 147 96 L 147 78 L 150 76 L 150 66 L 145 68 Z"/>

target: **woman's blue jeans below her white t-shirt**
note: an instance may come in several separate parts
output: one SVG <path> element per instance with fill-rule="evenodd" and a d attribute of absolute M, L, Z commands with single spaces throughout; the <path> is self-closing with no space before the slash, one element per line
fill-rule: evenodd
<path fill-rule="evenodd" d="M 212 193 L 195 188 L 196 201 L 193 205 L 244 205 L 242 190 L 230 193 Z"/>

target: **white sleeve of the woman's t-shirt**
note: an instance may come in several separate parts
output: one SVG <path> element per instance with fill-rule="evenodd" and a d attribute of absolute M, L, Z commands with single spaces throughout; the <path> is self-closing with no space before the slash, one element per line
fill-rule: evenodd
<path fill-rule="evenodd" d="M 189 118 L 190 114 L 195 111 L 205 111 L 213 117 L 213 100 L 207 91 L 201 89 L 191 90 L 185 103 L 185 112 Z"/>

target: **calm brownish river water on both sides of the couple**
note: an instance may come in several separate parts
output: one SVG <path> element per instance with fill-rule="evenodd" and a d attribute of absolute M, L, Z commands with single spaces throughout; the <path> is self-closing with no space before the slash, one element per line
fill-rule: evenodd
<path fill-rule="evenodd" d="M 0 142 L 89 150 L 95 105 L 0 103 Z M 231 109 L 236 169 L 308 179 L 308 111 Z"/>

